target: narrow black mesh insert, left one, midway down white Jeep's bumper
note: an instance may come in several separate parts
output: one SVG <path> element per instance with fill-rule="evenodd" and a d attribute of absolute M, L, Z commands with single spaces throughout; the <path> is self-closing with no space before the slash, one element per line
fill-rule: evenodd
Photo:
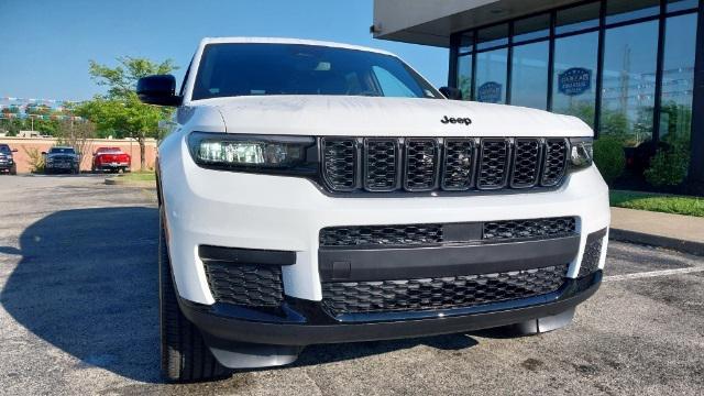
<path fill-rule="evenodd" d="M 331 227 L 320 230 L 321 246 L 427 245 L 442 243 L 442 226 Z"/>

